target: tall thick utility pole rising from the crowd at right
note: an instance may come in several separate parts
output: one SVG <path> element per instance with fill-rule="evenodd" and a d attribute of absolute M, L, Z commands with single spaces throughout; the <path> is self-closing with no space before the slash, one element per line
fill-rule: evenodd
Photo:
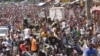
<path fill-rule="evenodd" d="M 86 8 L 86 17 L 87 17 L 87 24 L 88 24 L 88 27 L 89 27 L 89 32 L 90 32 L 90 37 L 92 36 L 93 34 L 93 21 L 92 21 L 92 18 L 91 18 L 91 13 L 90 13 L 90 9 L 91 9 L 91 5 L 92 5 L 92 0 L 86 0 L 85 2 L 85 8 Z"/>

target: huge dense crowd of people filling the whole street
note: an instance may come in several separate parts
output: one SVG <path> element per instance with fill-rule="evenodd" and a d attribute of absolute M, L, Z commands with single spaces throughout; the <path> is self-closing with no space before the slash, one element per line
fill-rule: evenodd
<path fill-rule="evenodd" d="M 64 7 L 66 18 L 59 21 L 38 17 L 31 3 L 1 4 L 0 26 L 9 34 L 0 39 L 0 56 L 98 56 L 99 27 L 88 23 L 84 6 Z"/>

